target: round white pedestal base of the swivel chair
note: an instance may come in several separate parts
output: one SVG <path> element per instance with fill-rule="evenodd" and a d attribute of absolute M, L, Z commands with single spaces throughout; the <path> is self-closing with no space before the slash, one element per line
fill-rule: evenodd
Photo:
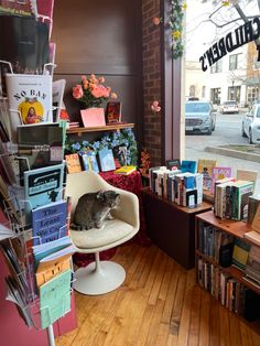
<path fill-rule="evenodd" d="M 73 286 L 79 293 L 98 295 L 111 292 L 119 288 L 126 278 L 124 269 L 118 263 L 101 261 L 100 266 L 96 262 L 86 268 L 79 268 L 75 272 Z"/>

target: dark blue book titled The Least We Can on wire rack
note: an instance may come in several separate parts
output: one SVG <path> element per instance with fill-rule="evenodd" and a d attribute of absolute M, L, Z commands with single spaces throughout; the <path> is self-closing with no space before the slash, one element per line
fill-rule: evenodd
<path fill-rule="evenodd" d="M 33 245 L 56 240 L 67 234 L 67 202 L 58 201 L 32 210 Z"/>

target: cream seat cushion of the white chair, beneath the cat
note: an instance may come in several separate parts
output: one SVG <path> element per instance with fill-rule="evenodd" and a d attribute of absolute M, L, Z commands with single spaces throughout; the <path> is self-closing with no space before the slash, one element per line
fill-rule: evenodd
<path fill-rule="evenodd" d="M 91 228 L 88 230 L 73 230 L 71 229 L 71 237 L 74 245 L 79 249 L 94 249 L 110 245 L 133 231 L 133 227 L 117 218 L 106 220 L 102 228 Z"/>

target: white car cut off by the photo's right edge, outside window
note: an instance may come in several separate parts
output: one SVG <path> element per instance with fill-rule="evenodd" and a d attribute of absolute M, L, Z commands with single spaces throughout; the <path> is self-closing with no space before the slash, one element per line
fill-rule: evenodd
<path fill-rule="evenodd" d="M 253 105 L 242 119 L 242 137 L 248 137 L 250 144 L 260 143 L 260 105 Z"/>

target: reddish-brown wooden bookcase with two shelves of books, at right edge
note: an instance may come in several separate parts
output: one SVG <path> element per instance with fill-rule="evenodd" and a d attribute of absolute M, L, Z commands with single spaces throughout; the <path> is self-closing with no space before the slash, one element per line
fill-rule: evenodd
<path fill-rule="evenodd" d="M 197 283 L 223 306 L 245 321 L 253 322 L 256 328 L 260 331 L 260 288 L 245 280 L 242 267 L 232 264 L 236 263 L 234 245 L 242 240 L 250 246 L 243 238 L 245 233 L 251 230 L 250 226 L 245 221 L 217 218 L 213 210 L 196 215 L 195 220 Z M 225 241 L 221 242 L 219 238 L 224 238 Z M 245 253 L 240 255 L 241 262 L 242 256 Z"/>

